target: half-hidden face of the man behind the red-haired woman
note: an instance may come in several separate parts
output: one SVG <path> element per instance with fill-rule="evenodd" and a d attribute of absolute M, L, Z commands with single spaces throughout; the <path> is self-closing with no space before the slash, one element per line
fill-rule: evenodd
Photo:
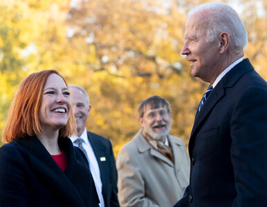
<path fill-rule="evenodd" d="M 86 125 L 86 119 L 90 115 L 91 105 L 86 101 L 84 94 L 77 88 L 70 88 L 73 100 L 73 110 L 77 126 L 78 136 L 82 135 Z"/>

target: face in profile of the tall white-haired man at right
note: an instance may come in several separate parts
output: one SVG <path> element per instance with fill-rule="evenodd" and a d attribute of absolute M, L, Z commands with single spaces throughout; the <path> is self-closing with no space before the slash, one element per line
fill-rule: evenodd
<path fill-rule="evenodd" d="M 191 74 L 203 81 L 210 82 L 217 75 L 219 61 L 219 41 L 207 41 L 207 15 L 193 14 L 185 25 L 185 43 L 182 55 L 190 61 Z"/>

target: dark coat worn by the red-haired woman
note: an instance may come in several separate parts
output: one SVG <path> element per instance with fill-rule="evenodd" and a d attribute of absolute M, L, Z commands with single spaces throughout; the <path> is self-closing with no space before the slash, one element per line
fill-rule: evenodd
<path fill-rule="evenodd" d="M 0 206 L 98 206 L 86 157 L 68 138 L 59 139 L 68 157 L 63 172 L 37 137 L 0 148 Z"/>

